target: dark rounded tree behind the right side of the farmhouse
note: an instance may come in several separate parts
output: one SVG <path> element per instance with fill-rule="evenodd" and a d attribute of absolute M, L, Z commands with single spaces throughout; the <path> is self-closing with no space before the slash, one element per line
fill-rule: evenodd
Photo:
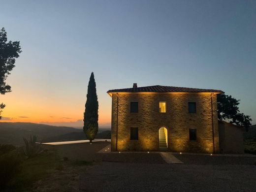
<path fill-rule="evenodd" d="M 220 94 L 217 96 L 218 101 L 218 118 L 219 120 L 226 120 L 229 123 L 245 127 L 247 130 L 251 124 L 252 119 L 249 115 L 240 113 L 239 101 L 232 96 Z"/>

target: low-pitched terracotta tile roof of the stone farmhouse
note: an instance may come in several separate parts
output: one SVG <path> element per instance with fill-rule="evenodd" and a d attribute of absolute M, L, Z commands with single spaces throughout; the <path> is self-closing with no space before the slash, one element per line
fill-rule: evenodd
<path fill-rule="evenodd" d="M 116 92 L 129 92 L 129 93 L 137 93 L 137 92 L 157 92 L 157 93 L 168 93 L 168 92 L 188 92 L 188 93 L 202 93 L 202 92 L 217 92 L 223 93 L 221 90 L 214 89 L 195 89 L 195 88 L 186 88 L 186 87 L 171 87 L 171 86 L 147 86 L 147 87 L 137 87 L 137 88 L 126 88 L 126 89 L 113 89 L 109 90 L 107 93 L 116 93 Z"/>

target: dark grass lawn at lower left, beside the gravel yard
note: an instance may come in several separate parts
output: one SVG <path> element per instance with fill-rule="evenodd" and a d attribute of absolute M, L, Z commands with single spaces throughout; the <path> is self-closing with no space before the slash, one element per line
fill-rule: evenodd
<path fill-rule="evenodd" d="M 20 171 L 8 183 L 7 191 L 54 191 L 53 186 L 63 189 L 74 173 L 79 173 L 78 169 L 82 171 L 88 165 L 93 165 L 93 162 L 85 160 L 61 160 L 54 149 L 31 159 L 21 159 Z M 65 187 L 63 191 L 66 190 Z"/>

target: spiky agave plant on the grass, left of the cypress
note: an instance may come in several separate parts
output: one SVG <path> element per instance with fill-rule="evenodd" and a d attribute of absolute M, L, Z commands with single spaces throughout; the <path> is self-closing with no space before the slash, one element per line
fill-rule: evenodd
<path fill-rule="evenodd" d="M 28 141 L 26 138 L 23 138 L 26 145 L 23 149 L 23 152 L 27 158 L 32 158 L 43 151 L 41 147 L 42 142 L 40 143 L 40 145 L 38 145 L 36 144 L 36 139 L 36 136 L 30 137 L 30 141 Z"/>

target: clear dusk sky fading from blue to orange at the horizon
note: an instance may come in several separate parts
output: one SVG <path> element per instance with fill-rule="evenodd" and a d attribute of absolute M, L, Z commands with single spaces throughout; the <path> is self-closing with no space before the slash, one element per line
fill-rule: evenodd
<path fill-rule="evenodd" d="M 255 0 L 1 0 L 0 28 L 22 53 L 1 122 L 83 126 L 93 71 L 99 124 L 109 89 L 220 89 L 256 124 Z"/>

